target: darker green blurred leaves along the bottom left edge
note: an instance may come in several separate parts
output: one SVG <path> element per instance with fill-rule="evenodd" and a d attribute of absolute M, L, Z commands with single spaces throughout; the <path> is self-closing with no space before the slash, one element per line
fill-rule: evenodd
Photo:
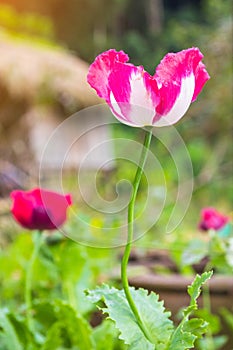
<path fill-rule="evenodd" d="M 23 317 L 0 310 L 1 350 L 124 350 L 113 324 L 105 320 L 91 328 L 71 305 L 61 300 L 39 302 L 35 307 L 35 332 Z"/>

